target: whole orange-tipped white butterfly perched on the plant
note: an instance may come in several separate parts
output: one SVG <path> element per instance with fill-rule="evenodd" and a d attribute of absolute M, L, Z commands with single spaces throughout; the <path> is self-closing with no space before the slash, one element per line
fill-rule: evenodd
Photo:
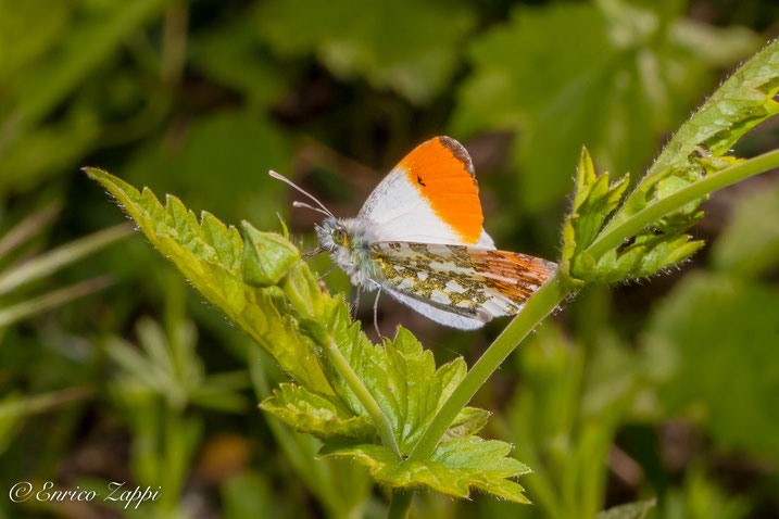
<path fill-rule="evenodd" d="M 360 290 L 386 292 L 441 325 L 481 328 L 519 313 L 554 274 L 546 260 L 499 251 L 485 231 L 479 188 L 465 148 L 435 137 L 409 153 L 374 189 L 353 218 L 323 213 L 317 251 L 330 254 Z M 377 328 L 378 329 L 378 328 Z"/>

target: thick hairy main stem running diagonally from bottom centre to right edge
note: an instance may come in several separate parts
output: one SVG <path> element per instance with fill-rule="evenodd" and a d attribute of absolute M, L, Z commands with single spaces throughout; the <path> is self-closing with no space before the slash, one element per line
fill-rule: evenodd
<path fill-rule="evenodd" d="M 618 246 L 623 241 L 637 235 L 645 226 L 662 216 L 679 210 L 704 194 L 726 188 L 753 175 L 779 167 L 779 150 L 750 159 L 718 173 L 698 180 L 657 202 L 650 203 L 632 217 L 607 229 L 588 249 L 594 257 Z M 503 332 L 474 364 L 465 378 L 455 388 L 430 425 L 425 430 L 406 461 L 430 457 L 447 429 L 465 407 L 487 379 L 550 313 L 574 292 L 574 284 L 566 282 L 563 275 L 555 274 L 525 305 L 525 308 L 508 324 Z M 405 461 L 404 461 L 405 463 Z M 392 493 L 388 519 L 403 519 L 409 516 L 413 492 L 395 490 Z"/>

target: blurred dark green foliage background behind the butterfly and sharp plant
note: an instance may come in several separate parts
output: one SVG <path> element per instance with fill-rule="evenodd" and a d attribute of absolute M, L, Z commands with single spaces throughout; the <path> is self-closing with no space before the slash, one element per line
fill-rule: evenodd
<path fill-rule="evenodd" d="M 0 0 L 0 518 L 386 511 L 361 469 L 261 415 L 284 377 L 79 167 L 230 224 L 280 215 L 312 249 L 317 215 L 267 169 L 351 216 L 450 135 L 498 245 L 553 260 L 581 145 L 640 174 L 777 34 L 774 0 Z M 777 147 L 769 122 L 737 153 Z M 705 210 L 703 252 L 579 294 L 477 395 L 535 505 L 422 495 L 414 514 L 577 519 L 656 497 L 650 518 L 779 517 L 779 177 Z M 452 331 L 389 299 L 379 319 L 439 363 L 474 362 L 506 324 Z M 21 481 L 160 497 L 14 503 Z"/>

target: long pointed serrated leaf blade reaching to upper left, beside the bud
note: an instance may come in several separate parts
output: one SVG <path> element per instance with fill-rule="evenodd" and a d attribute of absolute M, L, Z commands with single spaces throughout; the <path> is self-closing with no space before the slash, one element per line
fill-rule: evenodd
<path fill-rule="evenodd" d="M 299 338 L 289 313 L 279 311 L 274 292 L 242 280 L 243 241 L 235 227 L 224 226 L 205 212 L 199 224 L 175 197 L 167 197 L 167 206 L 163 207 L 148 188 L 139 193 L 105 172 L 95 168 L 86 172 L 108 189 L 160 253 L 285 371 L 310 391 L 334 395 L 315 352 Z M 305 264 L 298 263 L 293 271 L 306 269 Z"/>

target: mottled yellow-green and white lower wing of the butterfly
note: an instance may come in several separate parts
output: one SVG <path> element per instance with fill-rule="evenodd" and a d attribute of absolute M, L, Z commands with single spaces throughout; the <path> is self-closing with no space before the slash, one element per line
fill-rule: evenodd
<path fill-rule="evenodd" d="M 370 258 L 390 293 L 482 324 L 517 314 L 556 268 L 513 252 L 399 241 L 370 243 Z"/>

